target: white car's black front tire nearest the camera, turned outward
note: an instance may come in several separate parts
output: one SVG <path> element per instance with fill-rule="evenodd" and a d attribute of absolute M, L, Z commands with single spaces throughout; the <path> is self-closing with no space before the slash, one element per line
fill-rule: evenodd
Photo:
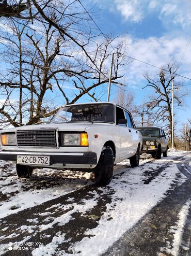
<path fill-rule="evenodd" d="M 97 166 L 93 169 L 93 180 L 97 186 L 110 183 L 114 172 L 114 152 L 109 146 L 104 146 Z"/>

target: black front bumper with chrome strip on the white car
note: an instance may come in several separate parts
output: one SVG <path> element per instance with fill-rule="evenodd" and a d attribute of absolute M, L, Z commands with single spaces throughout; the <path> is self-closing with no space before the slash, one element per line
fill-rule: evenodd
<path fill-rule="evenodd" d="M 39 153 L 39 152 L 26 152 L 26 151 L 0 151 L 0 159 L 5 161 L 17 162 L 17 155 L 39 155 L 39 156 L 50 156 L 50 166 L 54 164 L 97 164 L 97 154 L 94 152 L 88 153 Z M 48 166 L 45 166 L 48 167 Z"/>

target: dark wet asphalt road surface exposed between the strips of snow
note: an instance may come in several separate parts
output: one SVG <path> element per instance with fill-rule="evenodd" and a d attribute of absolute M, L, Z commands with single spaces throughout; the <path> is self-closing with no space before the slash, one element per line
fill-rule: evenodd
<path fill-rule="evenodd" d="M 189 166 L 190 159 L 184 156 L 174 158 L 179 160 L 177 167 L 180 172 L 187 177 L 187 180 L 177 186 L 176 182 L 172 184 L 169 191 L 166 192 L 164 200 L 153 207 L 148 214 L 136 223 L 131 230 L 126 231 L 119 240 L 117 240 L 103 254 L 107 255 L 134 255 L 134 256 L 164 256 L 172 255 L 167 253 L 165 248 L 168 244 L 173 243 L 173 235 L 170 231 L 171 226 L 178 221 L 178 214 L 181 208 L 189 200 L 191 195 L 191 167 Z M 153 162 L 154 160 L 151 160 Z M 148 170 L 145 172 L 144 184 L 149 184 L 164 169 L 168 169 L 173 162 L 166 162 L 164 165 L 158 163 L 157 171 Z M 144 164 L 144 165 L 147 165 Z M 114 176 L 114 179 L 120 179 L 123 172 Z M 179 177 L 176 177 L 177 180 Z M 40 244 L 46 245 L 52 242 L 56 234 L 64 233 L 65 240 L 59 244 L 59 248 L 68 254 L 72 255 L 71 246 L 76 241 L 81 241 L 87 236 L 87 229 L 94 229 L 99 224 L 99 219 L 95 220 L 87 218 L 87 216 L 95 215 L 101 217 L 106 211 L 106 205 L 111 203 L 111 196 L 115 194 L 115 189 L 109 186 L 106 189 L 97 188 L 93 185 L 86 186 L 81 190 L 74 191 L 64 196 L 60 196 L 51 201 L 47 201 L 41 205 L 19 211 L 17 214 L 9 215 L 0 222 L 1 237 L 0 243 L 5 245 L 15 243 L 17 241 L 27 241 L 38 247 Z M 75 207 L 85 207 L 86 200 L 93 200 L 96 195 L 97 204 L 91 209 L 87 209 L 86 214 L 82 215 L 78 211 L 73 211 Z M 72 198 L 72 199 L 71 199 Z M 62 207 L 62 205 L 65 207 Z M 117 202 L 116 202 L 117 204 Z M 67 216 L 70 212 L 72 216 L 69 221 L 60 225 L 60 217 Z M 179 255 L 191 255 L 191 214 L 186 219 L 184 226 L 183 237 L 181 241 Z M 66 217 L 67 218 L 67 217 Z M 37 219 L 36 225 L 29 223 L 29 219 Z M 54 220 L 55 223 L 52 223 Z M 109 220 L 109 217 L 108 217 Z M 50 227 L 49 224 L 51 223 Z M 43 227 L 45 228 L 43 229 Z M 39 229 L 41 226 L 41 230 Z M 42 232 L 42 230 L 44 230 Z M 36 244 L 38 241 L 39 244 Z M 98 245 L 99 246 L 99 245 Z M 186 250 L 185 250 L 186 248 Z M 80 253 L 80 251 L 79 251 Z M 0 253 L 1 255 L 1 253 Z M 31 250 L 6 250 L 3 255 L 31 255 Z M 46 254 L 47 255 L 47 254 Z M 53 253 L 51 255 L 57 255 Z M 65 255 L 64 253 L 62 255 Z"/>

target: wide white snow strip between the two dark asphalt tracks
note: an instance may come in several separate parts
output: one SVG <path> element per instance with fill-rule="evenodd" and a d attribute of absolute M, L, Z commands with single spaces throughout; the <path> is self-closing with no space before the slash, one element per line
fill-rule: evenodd
<path fill-rule="evenodd" d="M 116 193 L 113 195 L 113 203 L 107 205 L 107 211 L 99 221 L 99 225 L 95 229 L 87 231 L 87 237 L 83 238 L 82 241 L 72 245 L 70 249 L 73 254 L 93 256 L 103 253 L 126 230 L 129 230 L 140 218 L 147 214 L 152 207 L 163 200 L 166 191 L 177 180 L 177 174 L 181 175 L 181 178 L 178 179 L 179 185 L 186 180 L 176 165 L 172 165 L 149 184 L 144 184 L 144 176 L 141 174 L 149 168 L 156 169 L 157 164 L 149 163 L 144 168 L 135 168 L 125 173 L 121 179 L 113 180 L 110 185 L 111 188 L 116 189 Z M 161 163 L 162 165 L 163 163 Z M 108 221 L 108 217 L 112 220 Z M 114 236 L 110 236 L 114 230 Z M 62 255 L 61 252 L 58 255 Z"/>

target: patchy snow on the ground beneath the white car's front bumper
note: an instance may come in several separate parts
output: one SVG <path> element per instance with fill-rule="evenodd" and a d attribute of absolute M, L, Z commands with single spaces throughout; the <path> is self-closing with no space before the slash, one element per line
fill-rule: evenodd
<path fill-rule="evenodd" d="M 31 179 L 19 179 L 15 166 L 2 160 L 0 174 L 0 218 L 81 189 L 89 182 L 88 173 L 48 168 L 35 169 Z"/>

